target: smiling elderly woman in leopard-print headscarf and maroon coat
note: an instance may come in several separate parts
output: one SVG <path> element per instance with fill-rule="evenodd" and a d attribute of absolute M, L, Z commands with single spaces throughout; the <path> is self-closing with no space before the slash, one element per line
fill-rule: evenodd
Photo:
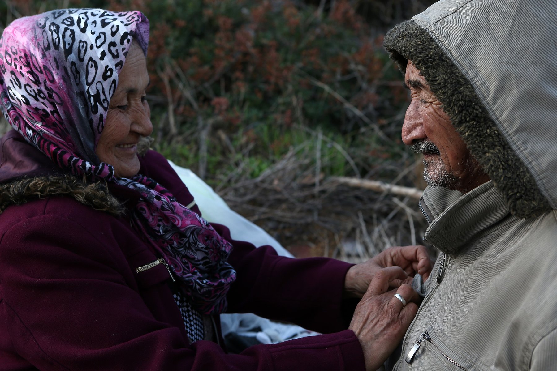
<path fill-rule="evenodd" d="M 378 368 L 416 315 L 400 283 L 427 278 L 424 248 L 296 260 L 208 224 L 162 156 L 138 156 L 148 30 L 140 12 L 64 9 L 0 39 L 0 368 Z M 229 355 L 225 311 L 328 334 Z"/>

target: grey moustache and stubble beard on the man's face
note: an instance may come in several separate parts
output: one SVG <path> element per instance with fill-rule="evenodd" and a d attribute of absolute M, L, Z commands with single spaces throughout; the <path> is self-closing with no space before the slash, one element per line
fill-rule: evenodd
<path fill-rule="evenodd" d="M 423 159 L 423 179 L 429 186 L 455 188 L 460 179 L 447 171 L 441 160 L 441 152 L 429 140 L 423 140 L 412 145 L 412 150 L 422 155 L 432 155 Z"/>

